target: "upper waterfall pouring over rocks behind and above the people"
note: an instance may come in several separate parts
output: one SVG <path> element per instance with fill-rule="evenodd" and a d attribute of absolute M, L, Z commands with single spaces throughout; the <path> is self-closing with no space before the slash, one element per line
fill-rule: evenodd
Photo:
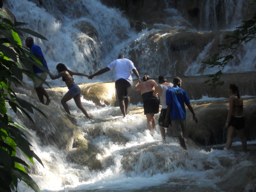
<path fill-rule="evenodd" d="M 42 1 L 42 5 L 36 2 L 10 0 L 6 6 L 18 21 L 29 23 L 28 28 L 49 40 L 35 38 L 50 70 L 55 72 L 56 64 L 62 62 L 71 70 L 86 74 L 105 67 L 119 52 L 134 62 L 140 74 L 149 73 L 152 77 L 215 73 L 218 68 L 203 69 L 201 61 L 218 52 L 217 44 L 224 42 L 224 35 L 249 19 L 246 14 L 253 13 L 250 0 L 165 1 L 163 12 L 168 24 L 155 23 L 150 29 L 136 33 L 120 10 L 98 0 Z M 188 7 L 198 9 L 196 17 L 189 17 Z M 242 44 L 224 72 L 254 71 L 255 50 L 253 41 Z M 82 77 L 75 80 L 92 82 Z M 93 82 L 98 80 L 113 80 L 113 73 L 98 76 Z M 62 85 L 59 79 L 51 81 L 48 77 L 47 82 L 52 86 Z"/>

